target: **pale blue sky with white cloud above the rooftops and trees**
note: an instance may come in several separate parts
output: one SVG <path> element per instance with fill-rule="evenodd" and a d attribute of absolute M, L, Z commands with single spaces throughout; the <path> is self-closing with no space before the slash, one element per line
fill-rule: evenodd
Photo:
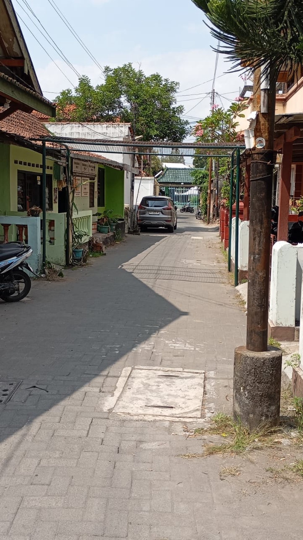
<path fill-rule="evenodd" d="M 185 107 L 184 117 L 189 122 L 194 123 L 209 113 L 207 92 L 212 90 L 216 60 L 211 46 L 216 42 L 203 22 L 202 11 L 191 0 L 12 2 L 46 98 L 53 100 L 61 90 L 75 86 L 77 75 L 34 26 L 36 23 L 41 29 L 37 18 L 75 71 L 87 75 L 94 85 L 103 80 L 100 68 L 53 9 L 55 2 L 102 67 L 131 62 L 135 68 L 140 66 L 146 75 L 158 72 L 180 83 L 177 100 Z M 229 69 L 230 64 L 219 55 L 215 91 L 220 96 L 216 95 L 215 103 L 224 107 L 239 95 L 239 87 L 243 86 L 237 73 L 226 73 Z"/>

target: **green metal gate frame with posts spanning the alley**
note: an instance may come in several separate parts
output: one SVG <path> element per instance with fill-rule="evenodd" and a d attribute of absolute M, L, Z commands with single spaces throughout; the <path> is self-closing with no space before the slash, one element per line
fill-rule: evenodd
<path fill-rule="evenodd" d="M 230 158 L 230 199 L 229 199 L 229 240 L 228 240 L 228 271 L 231 272 L 231 221 L 232 221 L 232 190 L 234 186 L 234 175 L 236 171 L 236 233 L 235 233 L 235 286 L 238 285 L 238 244 L 239 244 L 239 187 L 240 187 L 240 158 L 241 150 L 245 150 L 245 145 L 234 143 L 172 143 L 172 142 L 159 142 L 151 143 L 149 141 L 117 141 L 117 140 L 103 140 L 103 139 L 73 139 L 69 137 L 40 137 L 31 138 L 32 141 L 39 141 L 42 143 L 42 218 L 43 218 L 43 232 L 42 232 L 42 264 L 43 268 L 46 265 L 46 143 L 53 143 L 63 146 L 66 149 L 66 168 L 67 179 L 69 182 L 71 174 L 71 150 L 80 150 L 84 152 L 94 153 L 116 153 L 116 154 L 131 154 L 132 156 L 145 156 L 149 153 L 151 156 L 171 156 L 173 150 L 176 148 L 183 150 L 183 155 L 187 157 L 196 157 L 197 150 L 231 150 L 231 154 L 198 154 L 203 158 Z M 89 149 L 89 146 L 94 146 L 94 150 Z M 102 149 L 96 150 L 96 146 L 102 146 Z M 77 148 L 78 147 L 78 148 Z M 80 148 L 81 147 L 81 148 Z M 110 148 L 111 147 L 111 148 Z M 132 152 L 129 152 L 129 149 Z M 125 149 L 125 150 L 124 150 Z M 158 149 L 160 151 L 153 152 L 152 150 Z M 171 152 L 170 152 L 171 151 Z M 69 223 L 69 212 L 67 212 L 67 230 Z M 66 253 L 69 252 L 69 236 L 66 238 Z"/>

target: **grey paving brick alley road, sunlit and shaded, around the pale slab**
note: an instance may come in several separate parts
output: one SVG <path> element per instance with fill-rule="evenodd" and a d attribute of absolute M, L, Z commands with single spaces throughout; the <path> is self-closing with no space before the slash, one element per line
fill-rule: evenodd
<path fill-rule="evenodd" d="M 201 453 L 184 422 L 104 411 L 123 368 L 206 371 L 200 426 L 230 410 L 246 317 L 217 231 L 179 216 L 177 233 L 128 237 L 62 282 L 0 304 L 0 540 L 284 540 L 301 537 L 300 484 L 250 460 Z M 222 480 L 229 464 L 241 475 Z M 265 475 L 265 476 L 264 476 Z"/>

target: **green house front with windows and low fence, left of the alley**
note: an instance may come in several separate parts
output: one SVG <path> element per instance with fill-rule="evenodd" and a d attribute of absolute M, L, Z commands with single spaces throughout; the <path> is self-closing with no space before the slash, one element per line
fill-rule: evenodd
<path fill-rule="evenodd" d="M 8 216 L 12 218 L 8 232 L 0 225 L 0 242 L 18 239 L 31 243 L 29 227 L 22 227 L 24 218 L 33 206 L 43 206 L 42 145 L 31 139 L 44 136 L 49 132 L 33 114 L 16 111 L 0 122 L 0 224 L 1 216 L 5 224 Z M 72 200 L 74 193 L 74 227 L 86 232 L 87 239 L 96 230 L 93 224 L 98 212 L 107 209 L 124 217 L 122 164 L 119 167 L 102 156 L 72 151 L 70 166 L 72 185 L 68 187 L 66 151 L 47 143 L 46 258 L 62 266 L 66 264 L 68 196 Z M 42 214 L 42 234 L 41 218 Z"/>

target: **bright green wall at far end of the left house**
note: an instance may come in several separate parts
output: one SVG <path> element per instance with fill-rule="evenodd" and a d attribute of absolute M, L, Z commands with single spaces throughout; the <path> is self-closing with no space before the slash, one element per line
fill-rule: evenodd
<path fill-rule="evenodd" d="M 124 171 L 108 166 L 105 166 L 105 207 L 124 217 Z"/>

